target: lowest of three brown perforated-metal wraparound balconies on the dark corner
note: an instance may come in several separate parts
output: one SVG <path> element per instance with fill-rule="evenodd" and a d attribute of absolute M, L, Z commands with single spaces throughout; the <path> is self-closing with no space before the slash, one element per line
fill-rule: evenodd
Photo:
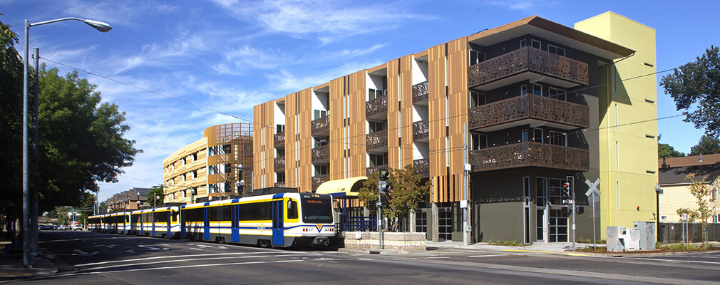
<path fill-rule="evenodd" d="M 521 167 L 590 170 L 588 150 L 534 142 L 471 150 L 468 160 L 473 172 Z"/>

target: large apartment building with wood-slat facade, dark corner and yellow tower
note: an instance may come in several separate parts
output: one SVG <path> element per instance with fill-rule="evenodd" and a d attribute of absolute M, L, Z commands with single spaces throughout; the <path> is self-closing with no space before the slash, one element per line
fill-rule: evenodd
<path fill-rule="evenodd" d="M 524 243 L 572 238 L 568 181 L 577 237 L 595 214 L 604 238 L 653 219 L 654 65 L 654 30 L 621 15 L 527 17 L 256 106 L 253 180 L 315 191 L 413 164 L 432 186 L 405 230 L 462 240 L 467 199 L 474 240 Z"/>

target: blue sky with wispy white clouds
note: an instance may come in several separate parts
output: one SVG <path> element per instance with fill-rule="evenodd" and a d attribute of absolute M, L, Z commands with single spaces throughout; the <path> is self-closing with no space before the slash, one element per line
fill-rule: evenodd
<path fill-rule="evenodd" d="M 161 184 L 162 161 L 212 125 L 252 119 L 257 104 L 483 29 L 537 15 L 572 27 L 613 11 L 656 30 L 657 71 L 720 45 L 720 1 L 35 1 L 0 0 L 0 21 L 23 37 L 23 21 L 62 17 L 111 24 L 100 33 L 67 21 L 30 29 L 41 63 L 81 73 L 126 112 L 144 153 L 99 198 Z M 17 45 L 22 53 L 22 42 Z M 48 60 L 53 60 L 53 63 Z M 660 80 L 667 73 L 657 76 Z M 208 109 L 168 99 L 192 102 Z M 658 117 L 680 114 L 657 89 Z M 660 143 L 683 153 L 703 130 L 682 117 L 658 122 Z"/>

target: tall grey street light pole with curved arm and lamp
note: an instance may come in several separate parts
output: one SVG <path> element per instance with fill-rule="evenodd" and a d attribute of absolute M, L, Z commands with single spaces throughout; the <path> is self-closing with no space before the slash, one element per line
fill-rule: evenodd
<path fill-rule="evenodd" d="M 30 45 L 28 45 L 28 40 L 30 39 L 30 27 L 40 26 L 43 24 L 50 24 L 54 22 L 60 22 L 60 21 L 68 21 L 68 20 L 76 20 L 76 21 L 82 21 L 86 24 L 89 24 L 90 27 L 94 27 L 96 30 L 99 30 L 100 32 L 109 32 L 109 30 L 112 30 L 112 27 L 110 27 L 109 24 L 104 22 L 98 22 L 91 19 L 80 19 L 75 17 L 67 17 L 67 18 L 61 18 L 61 19 L 53 19 L 50 21 L 45 22 L 37 22 L 32 23 L 25 20 L 25 43 L 24 43 L 24 68 L 23 68 L 23 74 L 22 74 L 22 266 L 29 268 L 30 267 L 30 183 L 28 181 L 28 167 L 30 164 L 30 160 L 28 159 L 28 149 L 29 149 L 29 125 L 28 125 L 28 119 L 27 119 L 27 107 L 28 107 L 28 73 L 30 73 L 30 58 L 29 58 L 29 49 Z M 37 214 L 37 213 L 36 213 Z"/>

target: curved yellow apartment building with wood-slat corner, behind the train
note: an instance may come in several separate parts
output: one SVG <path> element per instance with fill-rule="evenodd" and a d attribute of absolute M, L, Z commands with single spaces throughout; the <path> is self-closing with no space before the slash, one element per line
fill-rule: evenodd
<path fill-rule="evenodd" d="M 252 130 L 250 123 L 208 127 L 201 139 L 165 158 L 164 202 L 189 204 L 252 191 Z"/>

